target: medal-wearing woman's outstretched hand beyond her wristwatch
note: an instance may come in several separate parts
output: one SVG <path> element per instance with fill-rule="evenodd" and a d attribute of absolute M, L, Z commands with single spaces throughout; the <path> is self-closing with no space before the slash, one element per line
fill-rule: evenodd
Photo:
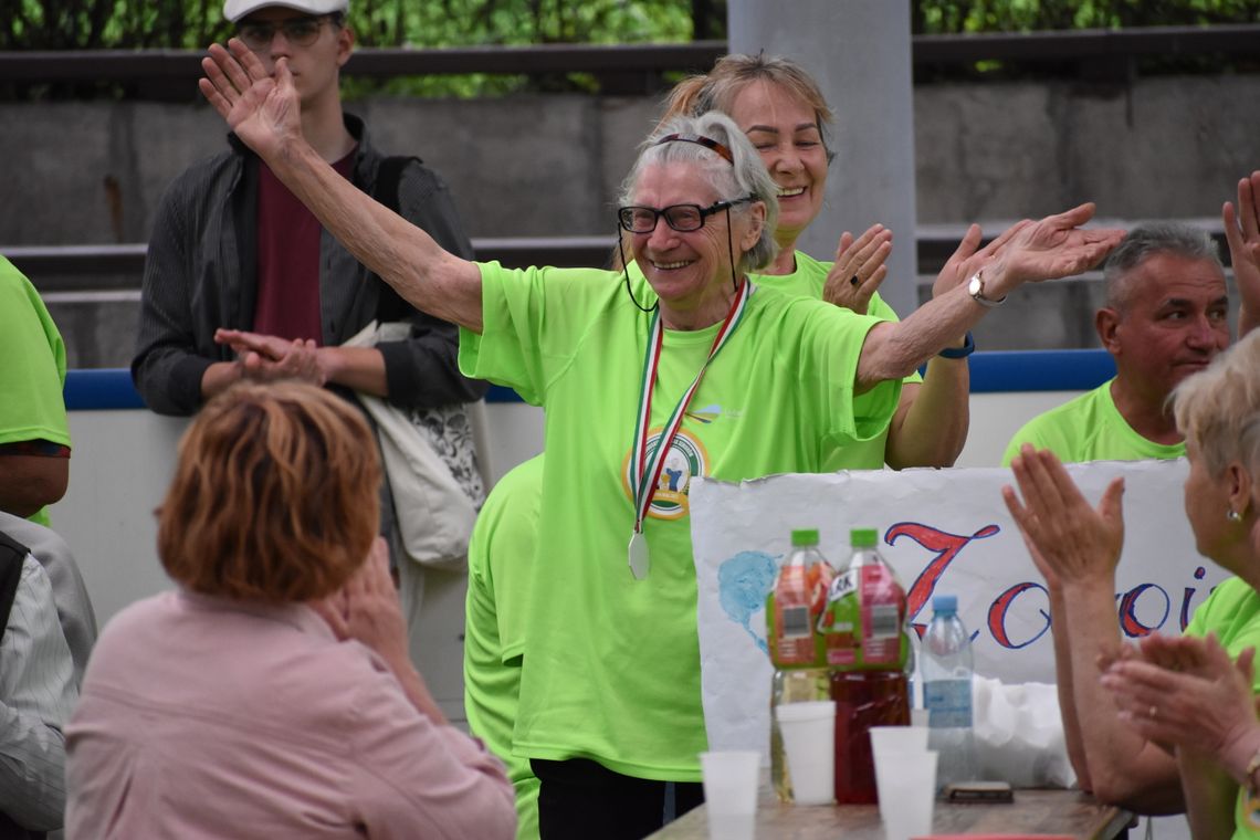
<path fill-rule="evenodd" d="M 1070 277 L 1097 264 L 1120 243 L 1124 230 L 1081 228 L 1094 218 L 1094 209 L 1090 201 L 1023 225 L 992 261 L 997 278 L 985 295 L 1003 297 L 1022 283 Z"/>

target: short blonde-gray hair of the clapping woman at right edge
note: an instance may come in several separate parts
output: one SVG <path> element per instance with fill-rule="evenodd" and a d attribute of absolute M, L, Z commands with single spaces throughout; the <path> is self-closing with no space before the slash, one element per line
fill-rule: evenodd
<path fill-rule="evenodd" d="M 1260 330 L 1216 356 L 1172 393 L 1177 428 L 1193 441 L 1208 475 L 1239 461 L 1260 479 Z"/>

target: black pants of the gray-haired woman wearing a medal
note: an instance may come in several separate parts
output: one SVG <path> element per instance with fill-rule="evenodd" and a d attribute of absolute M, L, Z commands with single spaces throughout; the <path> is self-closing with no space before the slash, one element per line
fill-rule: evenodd
<path fill-rule="evenodd" d="M 699 782 L 654 782 L 615 773 L 588 758 L 530 759 L 538 777 L 542 840 L 641 840 L 704 801 Z M 673 793 L 667 815 L 667 792 Z"/>

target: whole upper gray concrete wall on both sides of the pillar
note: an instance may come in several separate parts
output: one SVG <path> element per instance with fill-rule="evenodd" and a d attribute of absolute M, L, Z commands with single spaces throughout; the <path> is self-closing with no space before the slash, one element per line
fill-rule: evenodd
<path fill-rule="evenodd" d="M 1260 76 L 1129 87 L 934 84 L 915 92 L 920 223 L 1043 215 L 1217 217 L 1260 166 Z M 378 145 L 451 184 L 472 236 L 600 234 L 654 98 L 370 99 Z M 843 120 L 843 115 L 839 115 Z M 164 185 L 223 147 L 200 105 L 0 105 L 0 244 L 142 242 Z M 837 166 L 857 166 L 839 150 Z M 873 219 L 872 219 L 873 220 Z"/>

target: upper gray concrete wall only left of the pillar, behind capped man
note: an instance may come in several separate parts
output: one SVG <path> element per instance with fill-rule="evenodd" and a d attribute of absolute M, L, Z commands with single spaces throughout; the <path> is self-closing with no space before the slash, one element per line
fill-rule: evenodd
<path fill-rule="evenodd" d="M 651 127 L 653 99 L 527 96 L 372 99 L 348 110 L 372 141 L 416 154 L 451 185 L 471 236 L 614 232 L 612 196 Z M 0 244 L 145 242 L 163 189 L 224 149 L 208 107 L 0 105 Z"/>

